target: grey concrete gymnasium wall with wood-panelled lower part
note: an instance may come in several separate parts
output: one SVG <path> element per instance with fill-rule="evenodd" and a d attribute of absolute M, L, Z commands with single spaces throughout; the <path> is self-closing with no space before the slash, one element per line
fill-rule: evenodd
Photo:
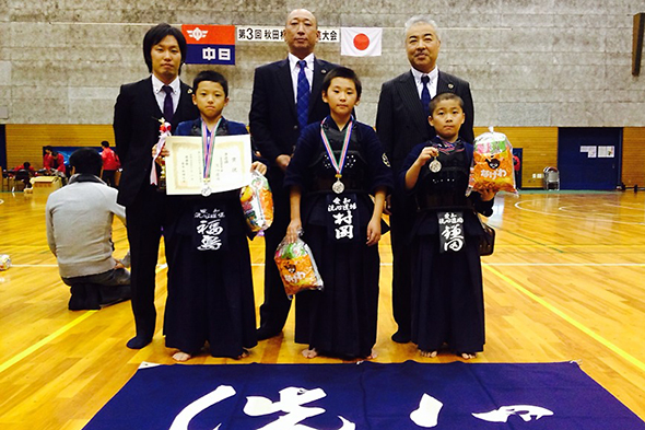
<path fill-rule="evenodd" d="M 525 187 L 558 165 L 558 127 L 625 127 L 623 177 L 645 183 L 645 81 L 631 74 L 633 15 L 642 0 L 285 1 L 285 0 L 0 0 L 0 124 L 8 164 L 42 163 L 44 144 L 114 141 L 119 85 L 148 75 L 145 31 L 159 22 L 282 26 L 307 8 L 322 27 L 384 28 L 383 56 L 341 57 L 318 44 L 320 58 L 354 68 L 363 80 L 357 107 L 373 125 L 380 85 L 407 70 L 402 26 L 429 13 L 442 32 L 438 66 L 471 83 L 480 131 L 495 126 L 524 148 Z M 236 65 L 214 66 L 231 83 L 225 115 L 248 123 L 257 66 L 284 58 L 284 43 L 236 43 Z M 190 82 L 203 66 L 185 66 Z"/>

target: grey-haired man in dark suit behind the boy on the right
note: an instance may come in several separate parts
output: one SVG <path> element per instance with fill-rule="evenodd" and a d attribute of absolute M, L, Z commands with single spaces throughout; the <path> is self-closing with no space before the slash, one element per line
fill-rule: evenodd
<path fill-rule="evenodd" d="M 436 94 L 455 93 L 464 100 L 466 121 L 459 136 L 472 143 L 474 108 L 468 82 L 439 71 L 436 59 L 441 38 L 438 27 L 426 16 L 413 16 L 406 23 L 406 50 L 412 67 L 410 71 L 387 81 L 380 89 L 376 131 L 385 147 L 395 175 L 412 147 L 435 136 L 427 121 L 427 104 Z M 410 341 L 411 317 L 411 255 L 407 236 L 413 222 L 415 208 L 403 195 L 394 193 L 390 200 L 392 246 L 392 310 L 398 330 L 392 335 L 397 342 Z"/>

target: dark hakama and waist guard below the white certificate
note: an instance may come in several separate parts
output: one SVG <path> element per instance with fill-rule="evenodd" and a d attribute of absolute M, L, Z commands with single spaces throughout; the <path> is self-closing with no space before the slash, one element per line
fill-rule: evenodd
<path fill-rule="evenodd" d="M 175 200 L 175 201 L 173 201 Z M 213 357 L 236 358 L 256 340 L 256 318 L 246 224 L 239 190 L 208 198 L 171 199 L 179 212 L 164 230 L 168 260 L 166 347 L 197 355 L 208 341 Z M 196 214 L 223 213 L 219 235 L 196 239 Z M 210 221 L 210 219 L 206 219 Z"/>

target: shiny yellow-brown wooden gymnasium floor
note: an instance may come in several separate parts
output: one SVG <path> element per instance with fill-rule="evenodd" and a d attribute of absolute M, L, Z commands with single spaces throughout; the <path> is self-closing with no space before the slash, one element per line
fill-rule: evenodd
<path fill-rule="evenodd" d="M 45 237 L 45 199 L 0 193 L 0 428 L 81 429 L 142 361 L 172 363 L 161 333 L 133 351 L 130 304 L 67 310 L 69 288 Z M 582 369 L 645 418 L 645 195 L 526 193 L 496 199 L 490 223 L 495 254 L 483 258 L 486 346 L 473 362 L 577 360 Z M 118 221 L 117 221 L 118 222 Z M 127 251 L 115 224 L 117 256 Z M 377 362 L 450 362 L 421 358 L 412 344 L 389 340 L 391 254 L 382 242 Z M 251 244 L 256 304 L 262 303 L 262 240 Z M 165 263 L 163 258 L 160 264 Z M 159 268 L 161 327 L 165 267 Z M 284 335 L 261 341 L 249 358 L 198 357 L 190 363 L 324 363 L 301 357 L 293 316 Z M 27 422 L 28 418 L 28 425 Z"/>

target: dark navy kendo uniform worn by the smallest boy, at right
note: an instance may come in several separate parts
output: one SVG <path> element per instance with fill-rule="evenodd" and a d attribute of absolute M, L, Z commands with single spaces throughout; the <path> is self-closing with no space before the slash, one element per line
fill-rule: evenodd
<path fill-rule="evenodd" d="M 403 162 L 398 185 L 404 187 L 406 172 L 426 146 L 439 149 L 442 168 L 423 166 L 408 196 L 418 212 L 409 239 L 415 262 L 412 272 L 412 341 L 422 351 L 437 351 L 444 344 L 457 353 L 483 350 L 484 304 L 479 240 L 483 229 L 477 213 L 492 214 L 491 201 L 473 191 L 466 197 L 472 146 L 458 140 L 453 149 L 439 138 L 412 149 Z M 442 148 L 443 147 L 443 148 Z M 439 252 L 438 212 L 461 212 L 464 246 L 458 252 Z"/>

